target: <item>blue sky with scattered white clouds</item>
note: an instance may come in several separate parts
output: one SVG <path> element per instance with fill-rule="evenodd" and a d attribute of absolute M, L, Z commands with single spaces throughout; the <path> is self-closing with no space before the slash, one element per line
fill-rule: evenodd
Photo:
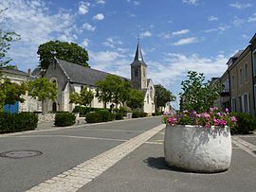
<path fill-rule="evenodd" d="M 148 78 L 175 96 L 190 70 L 220 77 L 256 32 L 253 0 L 0 0 L 6 8 L 0 26 L 21 37 L 9 49 L 20 70 L 39 64 L 40 44 L 60 40 L 84 47 L 92 68 L 130 78 L 139 37 Z"/>

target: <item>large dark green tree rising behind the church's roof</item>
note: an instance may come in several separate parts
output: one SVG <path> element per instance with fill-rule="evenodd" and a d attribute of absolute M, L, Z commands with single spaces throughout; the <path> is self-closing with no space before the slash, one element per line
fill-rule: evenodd
<path fill-rule="evenodd" d="M 80 64 L 84 67 L 89 67 L 87 51 L 74 43 L 49 41 L 45 44 L 40 44 L 37 54 L 39 55 L 40 68 L 46 70 L 54 57 L 69 61 L 75 64 Z"/>

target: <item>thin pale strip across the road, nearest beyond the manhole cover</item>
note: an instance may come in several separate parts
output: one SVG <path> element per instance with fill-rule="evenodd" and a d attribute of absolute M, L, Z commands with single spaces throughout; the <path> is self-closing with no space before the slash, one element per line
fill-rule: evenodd
<path fill-rule="evenodd" d="M 13 136 L 12 136 L 13 137 Z M 15 136 L 18 138 L 33 138 L 33 137 L 64 137 L 64 138 L 76 138 L 76 139 L 92 139 L 92 140 L 104 140 L 104 141 L 128 141 L 127 139 L 115 139 L 106 137 L 87 137 L 87 136 L 73 136 L 73 135 L 63 135 L 63 134 L 43 134 L 43 135 L 20 135 Z"/>

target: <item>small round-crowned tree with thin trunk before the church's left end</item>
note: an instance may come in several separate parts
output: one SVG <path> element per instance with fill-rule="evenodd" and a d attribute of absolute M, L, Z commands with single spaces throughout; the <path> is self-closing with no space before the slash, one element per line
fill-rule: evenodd
<path fill-rule="evenodd" d="M 46 78 L 37 78 L 28 82 L 28 95 L 42 101 L 43 113 L 45 113 L 44 102 L 46 99 L 54 101 L 57 97 L 57 87 L 54 82 Z"/>

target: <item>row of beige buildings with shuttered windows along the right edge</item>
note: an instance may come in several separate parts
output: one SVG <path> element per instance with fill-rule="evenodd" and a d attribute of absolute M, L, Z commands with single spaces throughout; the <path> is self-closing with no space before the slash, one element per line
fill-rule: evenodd
<path fill-rule="evenodd" d="M 245 50 L 229 59 L 227 65 L 227 71 L 219 79 L 222 84 L 220 105 L 231 112 L 256 116 L 256 35 Z"/>

